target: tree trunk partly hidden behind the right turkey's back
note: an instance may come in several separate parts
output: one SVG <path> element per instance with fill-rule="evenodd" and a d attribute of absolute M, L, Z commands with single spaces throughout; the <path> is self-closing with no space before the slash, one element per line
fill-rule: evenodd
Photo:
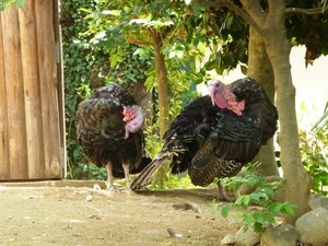
<path fill-rule="evenodd" d="M 247 75 L 258 81 L 265 89 L 270 101 L 274 103 L 274 77 L 272 66 L 261 36 L 251 26 L 249 27 Z M 273 139 L 270 139 L 267 145 L 261 148 L 255 161 L 261 163 L 257 169 L 259 174 L 263 176 L 279 175 Z"/>

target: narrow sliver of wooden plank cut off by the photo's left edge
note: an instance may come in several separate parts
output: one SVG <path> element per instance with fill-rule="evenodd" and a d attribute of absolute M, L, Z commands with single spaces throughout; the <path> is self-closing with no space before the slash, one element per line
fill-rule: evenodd
<path fill-rule="evenodd" d="M 4 78 L 2 21 L 0 12 L 0 179 L 10 177 L 8 118 L 7 118 L 7 92 Z"/>

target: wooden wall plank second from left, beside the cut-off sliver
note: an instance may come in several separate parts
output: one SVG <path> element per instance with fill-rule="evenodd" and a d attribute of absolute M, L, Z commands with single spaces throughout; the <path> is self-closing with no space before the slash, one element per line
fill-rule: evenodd
<path fill-rule="evenodd" d="M 19 14 L 14 4 L 1 13 L 8 102 L 10 177 L 27 178 L 27 151 Z"/>

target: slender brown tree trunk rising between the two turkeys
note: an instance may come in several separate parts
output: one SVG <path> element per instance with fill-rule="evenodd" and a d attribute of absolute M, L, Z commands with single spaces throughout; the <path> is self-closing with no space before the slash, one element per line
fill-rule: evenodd
<path fill-rule="evenodd" d="M 168 129 L 168 96 L 167 96 L 167 75 L 165 67 L 165 57 L 162 52 L 163 39 L 160 32 L 152 30 L 153 47 L 155 50 L 155 67 L 159 90 L 159 107 L 160 107 L 160 137 L 163 138 Z"/>

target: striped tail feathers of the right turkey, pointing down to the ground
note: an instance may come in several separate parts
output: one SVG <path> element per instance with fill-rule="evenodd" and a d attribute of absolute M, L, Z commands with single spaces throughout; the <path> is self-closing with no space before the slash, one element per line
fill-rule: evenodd
<path fill-rule="evenodd" d="M 130 188 L 132 190 L 140 189 L 152 180 L 153 174 L 163 165 L 163 163 L 172 156 L 172 153 L 161 152 L 132 181 Z"/>

